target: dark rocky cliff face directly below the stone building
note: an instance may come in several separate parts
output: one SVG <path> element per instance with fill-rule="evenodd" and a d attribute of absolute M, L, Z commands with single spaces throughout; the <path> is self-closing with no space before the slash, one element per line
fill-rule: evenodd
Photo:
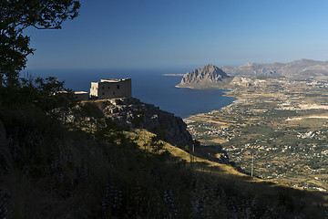
<path fill-rule="evenodd" d="M 193 144 L 187 125 L 181 118 L 159 110 L 152 104 L 133 98 L 104 99 L 97 101 L 97 107 L 119 125 L 149 130 L 164 141 L 181 148 Z"/>

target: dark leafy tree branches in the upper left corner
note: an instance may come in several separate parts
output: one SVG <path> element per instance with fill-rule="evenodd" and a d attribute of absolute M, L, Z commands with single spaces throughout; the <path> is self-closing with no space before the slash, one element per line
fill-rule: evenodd
<path fill-rule="evenodd" d="M 35 50 L 23 30 L 60 29 L 77 17 L 79 7 L 77 0 L 0 0 L 0 88 L 18 85 L 26 57 Z"/>

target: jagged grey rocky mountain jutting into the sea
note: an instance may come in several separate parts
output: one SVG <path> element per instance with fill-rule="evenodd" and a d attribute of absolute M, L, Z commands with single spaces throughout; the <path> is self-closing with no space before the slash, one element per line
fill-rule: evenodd
<path fill-rule="evenodd" d="M 230 77 L 220 68 L 210 64 L 184 75 L 178 88 L 210 89 L 225 84 Z"/>

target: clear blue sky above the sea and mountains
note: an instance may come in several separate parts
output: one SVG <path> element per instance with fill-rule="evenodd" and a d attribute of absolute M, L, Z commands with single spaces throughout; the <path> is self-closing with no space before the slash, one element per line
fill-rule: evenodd
<path fill-rule="evenodd" d="M 199 68 L 328 60 L 328 1 L 83 0 L 61 30 L 28 28 L 28 68 Z"/>

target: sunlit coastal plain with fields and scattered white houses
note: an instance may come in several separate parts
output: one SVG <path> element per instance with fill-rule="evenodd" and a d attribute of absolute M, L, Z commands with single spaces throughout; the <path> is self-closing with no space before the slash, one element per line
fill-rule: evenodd
<path fill-rule="evenodd" d="M 222 147 L 241 172 L 326 192 L 326 84 L 317 79 L 268 79 L 262 86 L 232 89 L 227 95 L 237 98 L 233 104 L 185 122 L 201 151 Z"/>

